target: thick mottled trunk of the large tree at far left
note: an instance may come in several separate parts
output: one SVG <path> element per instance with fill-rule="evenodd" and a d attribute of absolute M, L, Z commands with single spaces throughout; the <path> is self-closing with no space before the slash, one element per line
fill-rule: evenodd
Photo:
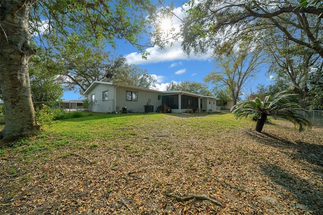
<path fill-rule="evenodd" d="M 35 51 L 28 31 L 30 1 L 1 1 L 0 85 L 6 111 L 6 125 L 0 144 L 36 134 L 31 99 L 28 61 Z"/>

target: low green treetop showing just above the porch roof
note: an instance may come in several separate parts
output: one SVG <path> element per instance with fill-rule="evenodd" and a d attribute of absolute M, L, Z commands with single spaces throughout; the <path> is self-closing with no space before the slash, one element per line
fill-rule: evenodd
<path fill-rule="evenodd" d="M 172 90 L 182 90 L 186 92 L 191 92 L 200 95 L 212 95 L 211 92 L 207 89 L 206 84 L 190 81 L 181 81 L 178 84 L 173 81 L 166 87 L 167 91 Z"/>

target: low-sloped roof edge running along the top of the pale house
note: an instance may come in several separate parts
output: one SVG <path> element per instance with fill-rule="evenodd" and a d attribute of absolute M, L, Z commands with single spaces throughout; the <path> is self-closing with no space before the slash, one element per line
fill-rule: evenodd
<path fill-rule="evenodd" d="M 129 86 L 126 84 L 119 84 L 119 83 L 113 83 L 113 82 L 104 82 L 104 81 L 94 81 L 84 92 L 85 95 L 87 95 L 87 93 L 89 91 L 91 91 L 96 85 L 98 84 L 106 84 L 106 85 L 113 85 L 115 87 L 126 87 L 129 89 L 138 89 L 138 90 L 144 90 L 144 91 L 151 91 L 151 92 L 160 92 L 163 94 L 185 94 L 185 95 L 192 95 L 192 96 L 197 96 L 197 97 L 204 97 L 204 98 L 212 98 L 212 99 L 218 99 L 216 97 L 212 97 L 212 96 L 205 96 L 205 95 L 199 95 L 196 93 L 191 93 L 191 92 L 186 92 L 186 91 L 182 91 L 182 90 L 174 90 L 174 91 L 159 91 L 159 90 L 153 90 L 153 89 L 148 89 L 148 88 L 143 88 L 143 87 L 136 87 L 136 86 Z"/>

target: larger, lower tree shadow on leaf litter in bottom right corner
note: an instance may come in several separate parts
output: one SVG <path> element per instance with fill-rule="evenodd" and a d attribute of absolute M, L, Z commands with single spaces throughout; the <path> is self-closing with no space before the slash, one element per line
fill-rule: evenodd
<path fill-rule="evenodd" d="M 276 191 L 282 198 L 289 200 L 286 193 L 294 195 L 297 202 L 292 202 L 291 205 L 295 208 L 311 210 L 314 214 L 322 214 L 322 191 L 321 183 L 312 181 L 311 179 L 304 179 L 296 174 L 292 174 L 283 170 L 281 167 L 273 164 L 261 165 L 264 175 L 270 177 L 273 182 L 280 185 L 287 192 Z"/>

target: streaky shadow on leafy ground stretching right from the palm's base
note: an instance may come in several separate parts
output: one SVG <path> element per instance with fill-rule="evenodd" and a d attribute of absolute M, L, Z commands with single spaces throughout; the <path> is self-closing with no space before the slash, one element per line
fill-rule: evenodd
<path fill-rule="evenodd" d="M 252 130 L 247 131 L 247 134 L 261 144 L 280 149 L 288 156 L 323 167 L 323 145 L 312 144 L 301 140 L 291 142 L 275 134 L 265 132 L 259 133 Z"/>

